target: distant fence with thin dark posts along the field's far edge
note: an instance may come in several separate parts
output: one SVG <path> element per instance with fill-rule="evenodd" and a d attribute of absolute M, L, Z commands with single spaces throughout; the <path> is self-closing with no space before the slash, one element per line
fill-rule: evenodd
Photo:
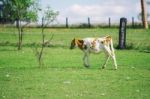
<path fill-rule="evenodd" d="M 73 21 L 74 20 L 74 21 Z M 99 17 L 99 18 L 61 18 L 61 20 L 57 20 L 56 22 L 48 25 L 51 28 L 118 28 L 120 22 L 120 17 Z M 2 24 L 2 23 L 0 23 Z M 149 21 L 150 25 L 150 21 Z M 12 26 L 12 25 L 8 25 Z M 15 23 L 14 25 L 15 26 Z M 31 23 L 28 27 L 41 27 L 39 23 Z M 127 18 L 127 27 L 128 28 L 143 28 L 142 22 L 137 18 L 131 17 Z"/>

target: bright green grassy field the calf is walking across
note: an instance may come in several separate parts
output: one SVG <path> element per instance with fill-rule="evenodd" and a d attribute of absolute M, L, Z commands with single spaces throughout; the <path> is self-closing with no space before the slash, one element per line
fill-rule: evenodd
<path fill-rule="evenodd" d="M 23 49 L 17 51 L 17 30 L 0 28 L 0 99 L 149 99 L 150 30 L 128 29 L 130 50 L 116 50 L 118 70 L 112 61 L 102 70 L 104 54 L 91 55 L 91 67 L 82 52 L 70 50 L 74 38 L 111 35 L 118 29 L 46 29 L 44 68 L 38 68 L 33 44 L 41 42 L 40 29 L 27 28 Z"/>

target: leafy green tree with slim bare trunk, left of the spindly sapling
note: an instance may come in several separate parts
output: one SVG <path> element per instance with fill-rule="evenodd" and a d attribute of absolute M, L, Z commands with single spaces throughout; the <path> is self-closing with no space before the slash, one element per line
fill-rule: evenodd
<path fill-rule="evenodd" d="M 21 50 L 24 27 L 31 21 L 37 20 L 38 3 L 35 0 L 5 0 L 4 4 L 5 15 L 16 21 L 18 50 Z"/>

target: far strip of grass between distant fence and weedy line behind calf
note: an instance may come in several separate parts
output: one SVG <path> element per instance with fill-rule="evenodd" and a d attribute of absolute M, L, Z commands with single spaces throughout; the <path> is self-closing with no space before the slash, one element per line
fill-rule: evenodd
<path fill-rule="evenodd" d="M 46 39 L 49 40 L 54 34 L 54 39 L 48 46 L 68 47 L 71 39 L 84 37 L 101 37 L 111 35 L 114 45 L 118 45 L 118 29 L 46 29 Z M 23 36 L 23 46 L 32 46 L 41 43 L 40 28 L 26 28 Z M 17 30 L 15 28 L 0 28 L 0 45 L 15 46 L 17 44 Z M 137 50 L 150 50 L 150 29 L 127 29 L 127 48 Z"/>

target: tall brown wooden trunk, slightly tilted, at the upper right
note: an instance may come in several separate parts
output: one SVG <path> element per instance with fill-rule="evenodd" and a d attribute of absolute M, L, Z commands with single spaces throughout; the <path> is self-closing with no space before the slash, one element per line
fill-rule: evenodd
<path fill-rule="evenodd" d="M 141 10 L 142 10 L 142 23 L 145 29 L 148 29 L 147 22 L 147 11 L 146 11 L 146 2 L 145 0 L 141 0 Z"/>

